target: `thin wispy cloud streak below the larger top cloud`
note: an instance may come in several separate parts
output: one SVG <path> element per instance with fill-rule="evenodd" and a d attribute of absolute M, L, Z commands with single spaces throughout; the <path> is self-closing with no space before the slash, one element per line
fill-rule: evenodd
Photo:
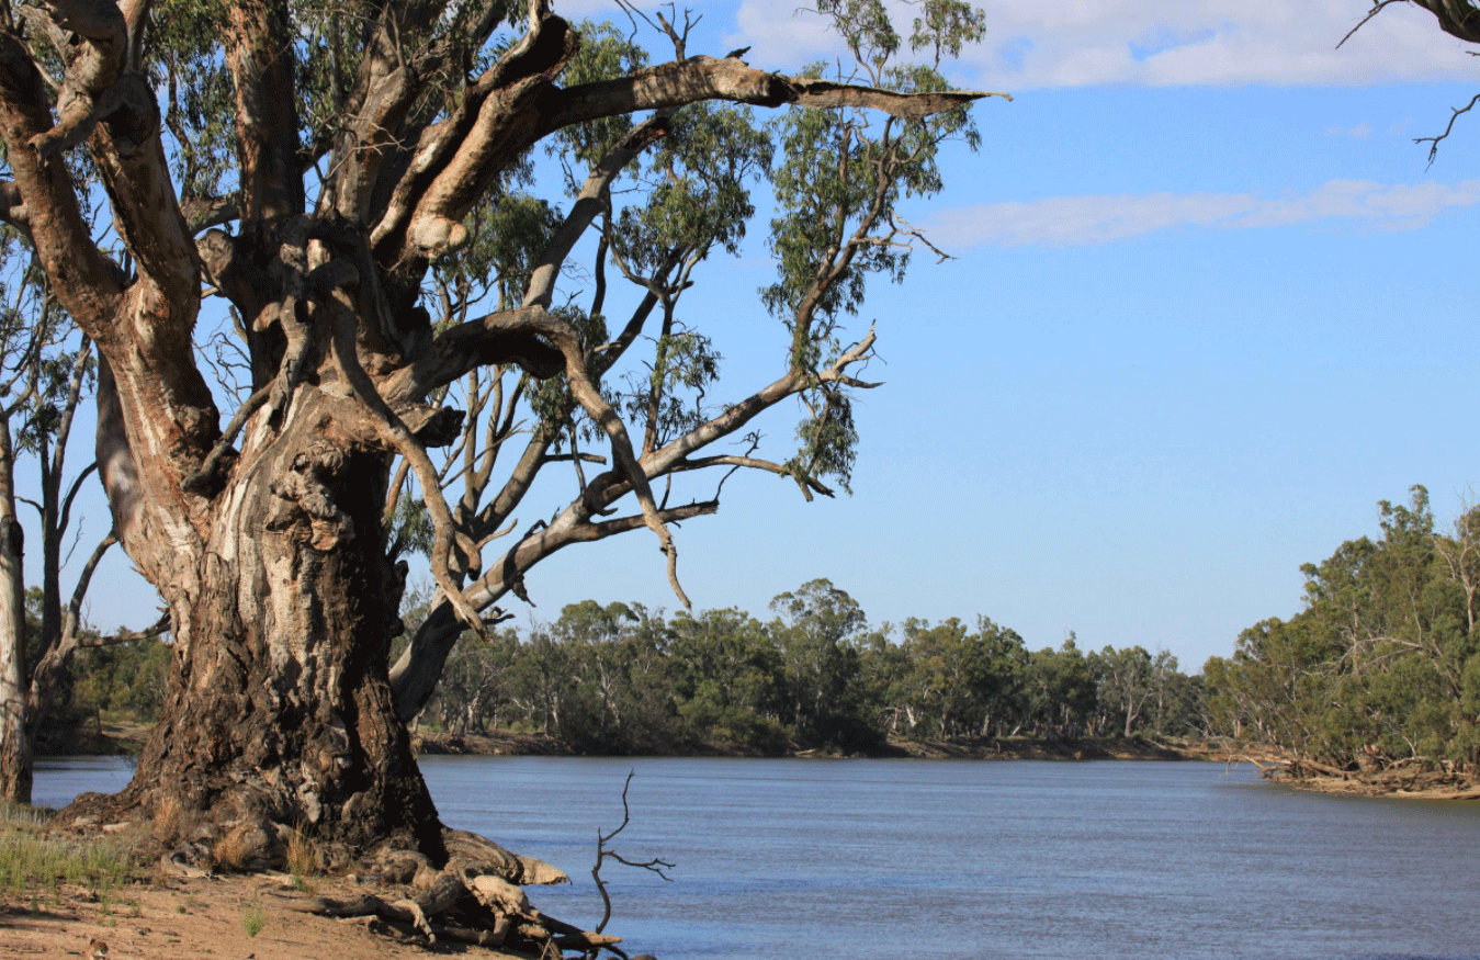
<path fill-rule="evenodd" d="M 1476 204 L 1480 204 L 1480 180 L 1397 185 L 1331 180 L 1305 195 L 1282 198 L 1163 192 L 975 204 L 935 213 L 925 231 L 947 250 L 1082 247 L 1178 228 L 1255 229 L 1345 220 L 1373 229 L 1415 229 L 1446 210 Z"/>

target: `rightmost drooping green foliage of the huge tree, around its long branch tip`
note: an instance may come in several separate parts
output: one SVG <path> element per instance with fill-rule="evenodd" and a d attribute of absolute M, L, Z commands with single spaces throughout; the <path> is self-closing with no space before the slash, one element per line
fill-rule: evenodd
<path fill-rule="evenodd" d="M 879 0 L 830 0 L 820 10 L 867 80 L 903 93 L 949 90 L 935 70 L 940 56 L 981 36 L 980 10 L 932 0 L 915 24 L 912 47 L 931 47 L 935 67 L 898 65 L 900 36 Z M 823 70 L 814 65 L 808 75 Z M 898 204 L 940 192 L 941 145 L 961 141 L 975 149 L 980 135 L 965 109 L 903 121 L 854 109 L 793 108 L 768 127 L 787 161 L 771 175 L 777 280 L 761 299 L 790 333 L 790 368 L 817 373 L 848 349 L 842 322 L 861 308 L 869 277 L 904 280 L 919 234 L 900 220 Z M 802 481 L 836 478 L 847 490 L 858 444 L 847 389 L 817 382 L 801 401 L 807 413 L 786 472 Z"/>

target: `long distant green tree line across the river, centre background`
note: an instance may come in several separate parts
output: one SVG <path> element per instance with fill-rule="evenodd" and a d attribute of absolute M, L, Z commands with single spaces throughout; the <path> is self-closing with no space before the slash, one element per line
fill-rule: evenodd
<path fill-rule="evenodd" d="M 889 737 L 1185 735 L 1200 679 L 1141 646 L 1030 651 L 986 617 L 870 629 L 827 580 L 771 604 L 665 617 L 585 601 L 525 632 L 459 642 L 420 722 L 558 735 L 586 753 L 706 746 L 858 751 Z M 414 620 L 414 611 L 410 617 Z"/>

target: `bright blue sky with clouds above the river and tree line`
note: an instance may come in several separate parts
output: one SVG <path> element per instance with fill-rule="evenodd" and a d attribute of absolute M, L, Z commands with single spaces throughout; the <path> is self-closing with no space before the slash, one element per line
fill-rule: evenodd
<path fill-rule="evenodd" d="M 697 4 L 690 52 L 833 53 L 795 6 Z M 1412 142 L 1480 92 L 1480 61 L 1402 6 L 1336 50 L 1365 0 L 983 6 L 987 41 L 953 80 L 1015 99 L 975 108 L 981 151 L 906 213 L 956 259 L 919 257 L 860 317 L 887 386 L 860 404 L 854 496 L 737 476 L 719 516 L 678 531 L 681 575 L 699 608 L 764 615 L 827 577 L 875 623 L 986 614 L 1035 648 L 1074 630 L 1197 669 L 1295 612 L 1299 564 L 1373 533 L 1378 500 L 1425 484 L 1447 521 L 1480 481 L 1480 111 L 1433 166 Z M 752 234 L 691 308 L 727 395 L 781 354 Z M 95 595 L 102 626 L 152 618 L 124 569 Z M 558 555 L 528 587 L 542 618 L 676 605 L 644 534 Z"/>

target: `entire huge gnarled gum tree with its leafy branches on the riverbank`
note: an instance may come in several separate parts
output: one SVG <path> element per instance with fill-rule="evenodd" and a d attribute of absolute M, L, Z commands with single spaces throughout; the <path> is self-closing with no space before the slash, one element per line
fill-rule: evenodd
<path fill-rule="evenodd" d="M 913 234 L 894 200 L 938 189 L 934 148 L 974 136 L 963 105 L 981 96 L 894 68 L 901 43 L 882 10 L 826 10 L 858 58 L 857 74 L 833 81 L 691 56 L 687 30 L 662 16 L 672 62 L 605 56 L 619 34 L 583 46 L 542 0 L 0 1 L 0 217 L 96 343 L 98 472 L 118 540 L 172 620 L 163 720 L 132 784 L 99 809 L 284 824 L 351 852 L 389 843 L 441 862 L 447 834 L 406 720 L 451 643 L 481 632 L 525 569 L 573 543 L 647 530 L 681 590 L 670 525 L 713 512 L 718 494 L 673 504 L 656 479 L 753 467 L 827 490 L 833 460 L 851 456 L 839 453 L 851 442 L 845 393 L 866 386 L 850 368 L 873 349 L 872 333 L 842 342 L 838 317 L 857 306 L 863 272 L 903 269 Z M 929 0 L 913 46 L 938 62 L 974 33 L 980 12 Z M 767 300 L 787 337 L 778 377 L 663 419 L 665 391 L 682 377 L 650 361 L 656 373 L 633 391 L 644 402 L 602 377 L 633 343 L 656 343 L 659 367 L 693 346 L 673 300 L 724 238 L 629 250 L 623 271 L 647 293 L 611 334 L 595 322 L 599 303 L 552 309 L 555 281 L 588 228 L 602 256 L 617 243 L 613 179 L 645 152 L 676 155 L 667 141 L 699 126 L 685 111 L 713 101 L 821 108 L 813 139 L 842 146 L 827 163 L 801 160 L 838 186 L 804 217 L 814 237 L 773 241 L 783 280 Z M 497 240 L 490 210 L 546 138 L 579 170 L 568 212 L 500 274 L 494 309 L 450 308 L 438 269 Z M 107 229 L 84 216 L 89 189 L 105 198 Z M 203 296 L 229 302 L 249 358 L 229 419 L 198 362 Z M 540 392 L 543 405 L 522 433 L 512 414 L 490 433 L 525 444 L 502 487 L 480 469 L 463 478 L 488 501 L 450 503 L 428 450 L 466 441 L 448 388 L 480 373 L 484 385 L 508 377 L 527 401 Z M 789 396 L 805 401 L 798 456 L 765 460 L 753 444 L 696 456 Z M 577 435 L 602 456 L 576 451 Z M 580 470 L 598 462 L 601 472 Z M 485 562 L 549 463 L 577 467 L 579 494 Z M 392 672 L 406 567 L 388 503 L 407 472 L 425 498 L 438 596 Z"/>

